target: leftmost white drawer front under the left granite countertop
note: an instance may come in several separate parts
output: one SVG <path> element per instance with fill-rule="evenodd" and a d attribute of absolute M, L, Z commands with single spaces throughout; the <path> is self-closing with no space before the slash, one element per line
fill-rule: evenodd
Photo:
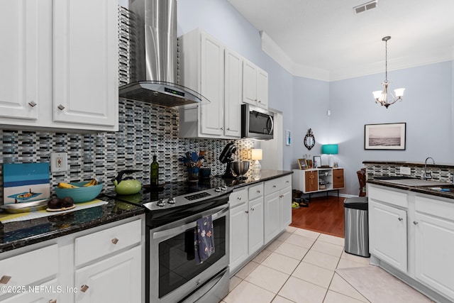
<path fill-rule="evenodd" d="M 1 260 L 0 279 L 3 277 L 4 283 L 0 285 L 26 286 L 57 275 L 58 262 L 57 244 Z M 11 277 L 9 282 L 6 277 Z"/>

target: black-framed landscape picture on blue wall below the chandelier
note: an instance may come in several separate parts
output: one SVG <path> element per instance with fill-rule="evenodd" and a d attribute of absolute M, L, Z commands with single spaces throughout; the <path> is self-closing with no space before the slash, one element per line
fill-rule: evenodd
<path fill-rule="evenodd" d="M 365 150 L 405 150 L 406 123 L 366 124 Z"/>

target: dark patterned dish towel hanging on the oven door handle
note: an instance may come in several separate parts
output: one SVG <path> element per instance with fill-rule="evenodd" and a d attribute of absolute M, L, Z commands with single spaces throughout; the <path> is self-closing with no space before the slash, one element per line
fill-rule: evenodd
<path fill-rule="evenodd" d="M 194 230 L 194 255 L 197 264 L 204 262 L 214 253 L 213 220 L 211 216 L 197 220 Z"/>

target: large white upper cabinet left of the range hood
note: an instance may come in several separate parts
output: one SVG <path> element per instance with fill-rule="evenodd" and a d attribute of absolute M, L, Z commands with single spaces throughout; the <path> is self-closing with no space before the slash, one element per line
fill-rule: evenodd
<path fill-rule="evenodd" d="M 0 124 L 117 131 L 116 1 L 0 7 Z"/>

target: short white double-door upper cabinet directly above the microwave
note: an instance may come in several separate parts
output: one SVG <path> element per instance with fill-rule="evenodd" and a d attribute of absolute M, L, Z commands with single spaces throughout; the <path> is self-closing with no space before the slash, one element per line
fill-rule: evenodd
<path fill-rule="evenodd" d="M 243 61 L 243 102 L 268 108 L 268 74 L 248 60 Z"/>

